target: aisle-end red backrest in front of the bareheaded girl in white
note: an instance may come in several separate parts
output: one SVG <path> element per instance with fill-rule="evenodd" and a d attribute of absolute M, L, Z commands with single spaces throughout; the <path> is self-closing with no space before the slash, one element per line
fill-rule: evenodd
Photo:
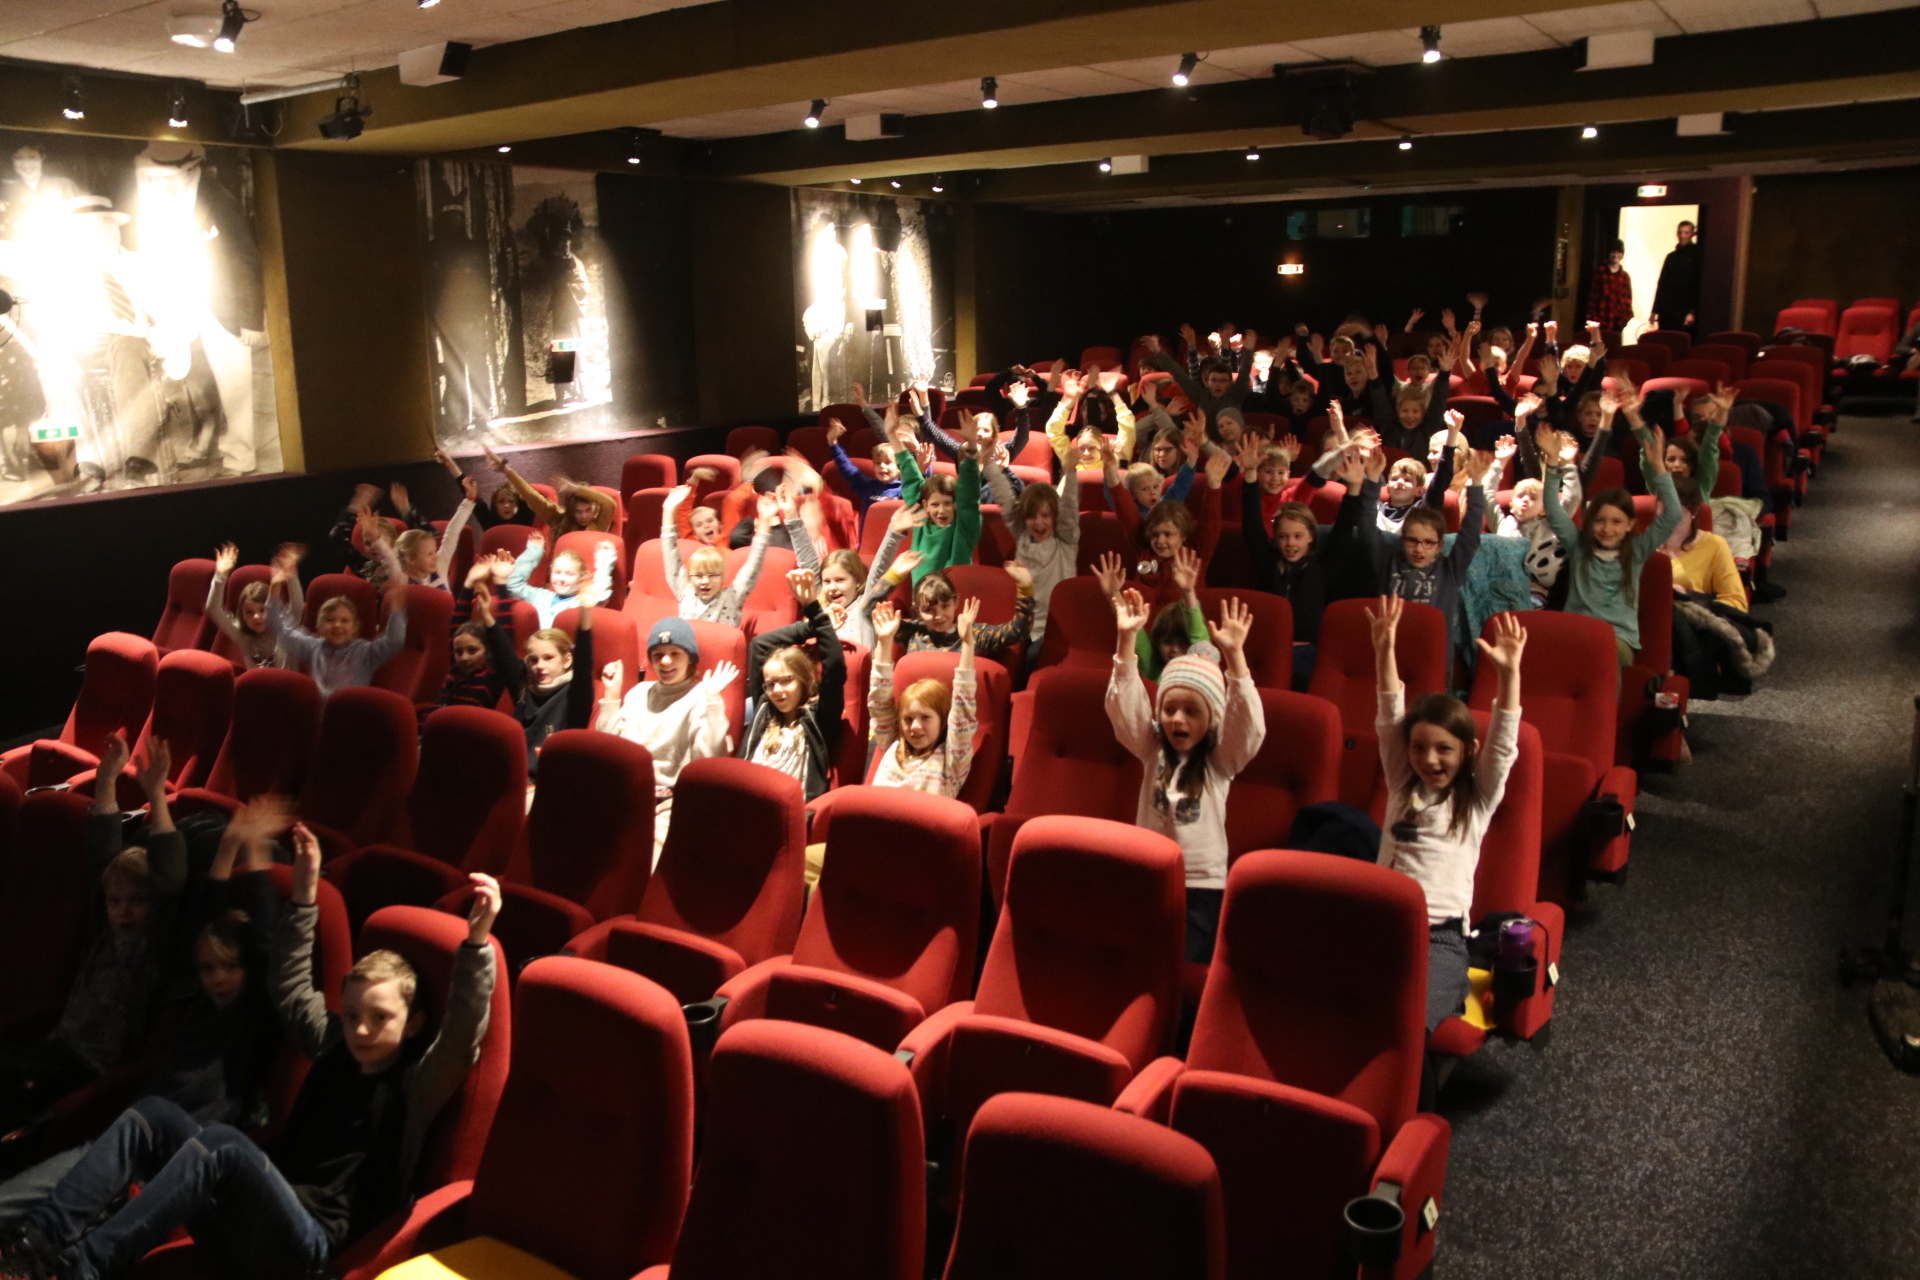
<path fill-rule="evenodd" d="M 1384 1148 L 1419 1102 L 1425 1007 L 1419 881 L 1352 858 L 1252 852 L 1227 873 L 1187 1069 L 1336 1098 L 1379 1123 Z"/>

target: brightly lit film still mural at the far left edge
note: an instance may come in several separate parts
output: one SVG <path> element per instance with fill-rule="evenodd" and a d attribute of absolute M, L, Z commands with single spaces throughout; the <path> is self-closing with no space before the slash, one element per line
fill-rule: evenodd
<path fill-rule="evenodd" d="M 0 129 L 0 503 L 276 470 L 246 150 Z"/>

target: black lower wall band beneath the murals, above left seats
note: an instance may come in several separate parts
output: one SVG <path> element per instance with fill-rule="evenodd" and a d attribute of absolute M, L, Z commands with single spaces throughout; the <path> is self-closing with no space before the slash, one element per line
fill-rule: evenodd
<path fill-rule="evenodd" d="M 555 472 L 616 484 L 632 453 L 678 459 L 718 449 L 716 430 L 657 432 L 580 445 L 509 451 L 530 480 Z M 463 459 L 480 472 L 478 459 Z M 326 541 L 357 482 L 411 491 L 428 516 L 459 503 L 453 478 L 434 462 L 363 464 L 346 472 L 223 480 L 140 493 L 113 493 L 0 510 L 0 539 L 31 549 L 13 557 L 0 610 L 0 668 L 13 672 L 0 699 L 0 741 L 58 723 L 81 687 L 86 645 L 104 631 L 152 635 L 167 603 L 167 574 L 179 560 L 211 555 L 223 541 L 257 564 L 282 541 L 307 543 L 303 578 L 334 572 L 346 553 Z M 492 493 L 495 480 L 480 478 Z"/>

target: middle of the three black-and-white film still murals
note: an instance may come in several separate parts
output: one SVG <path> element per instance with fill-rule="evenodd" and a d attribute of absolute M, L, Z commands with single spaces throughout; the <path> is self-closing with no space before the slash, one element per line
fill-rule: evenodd
<path fill-rule="evenodd" d="M 417 180 L 442 447 L 616 430 L 593 175 L 424 159 Z"/>

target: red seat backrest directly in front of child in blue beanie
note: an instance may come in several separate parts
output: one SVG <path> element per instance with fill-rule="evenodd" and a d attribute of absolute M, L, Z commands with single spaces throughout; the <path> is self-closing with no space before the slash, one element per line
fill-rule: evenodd
<path fill-rule="evenodd" d="M 637 919 L 720 942 L 749 965 L 787 956 L 801 931 L 804 864 L 799 779 L 732 756 L 693 760 L 674 783 L 666 844 Z"/>

